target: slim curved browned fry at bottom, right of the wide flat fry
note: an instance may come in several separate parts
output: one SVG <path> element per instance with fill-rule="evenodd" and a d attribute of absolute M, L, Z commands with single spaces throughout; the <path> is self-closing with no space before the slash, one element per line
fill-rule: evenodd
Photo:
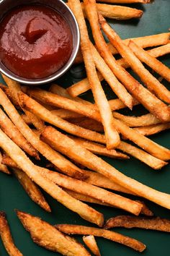
<path fill-rule="evenodd" d="M 128 247 L 131 247 L 139 252 L 143 252 L 146 249 L 146 245 L 122 234 L 109 231 L 106 229 L 97 229 L 90 226 L 79 226 L 71 224 L 58 224 L 55 225 L 56 229 L 66 234 L 81 234 L 81 235 L 92 235 L 92 236 L 101 236 L 105 239 L 109 239 L 113 242 L 124 244 Z"/>

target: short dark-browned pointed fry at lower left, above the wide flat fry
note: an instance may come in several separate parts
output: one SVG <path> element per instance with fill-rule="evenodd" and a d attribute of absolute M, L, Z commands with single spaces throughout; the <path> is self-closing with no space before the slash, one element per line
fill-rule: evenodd
<path fill-rule="evenodd" d="M 40 205 L 42 209 L 51 212 L 48 202 L 45 200 L 45 197 L 42 195 L 42 192 L 40 192 L 40 189 L 37 187 L 37 185 L 32 182 L 30 177 L 27 176 L 24 171 L 19 170 L 19 168 L 12 168 L 12 171 L 32 201 L 37 203 L 37 205 Z"/>

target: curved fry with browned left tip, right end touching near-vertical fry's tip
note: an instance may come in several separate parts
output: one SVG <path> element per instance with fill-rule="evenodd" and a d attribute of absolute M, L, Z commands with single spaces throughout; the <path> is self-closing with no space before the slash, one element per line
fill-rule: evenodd
<path fill-rule="evenodd" d="M 48 111 L 48 109 L 44 108 L 24 93 L 19 94 L 19 102 L 23 108 L 27 108 L 28 111 L 31 111 L 40 119 L 47 121 L 48 123 L 53 124 L 72 135 L 78 135 L 79 137 L 84 137 L 87 140 L 94 140 L 96 142 L 106 142 L 104 135 L 76 126 L 75 124 L 71 124 L 64 119 L 55 116 L 53 113 Z"/>

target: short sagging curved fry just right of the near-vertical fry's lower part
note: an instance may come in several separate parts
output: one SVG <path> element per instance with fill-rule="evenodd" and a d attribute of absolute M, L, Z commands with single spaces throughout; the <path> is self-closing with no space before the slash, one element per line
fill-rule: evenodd
<path fill-rule="evenodd" d="M 159 124 L 161 121 L 152 114 L 143 116 L 124 116 L 117 112 L 112 112 L 113 116 L 117 119 L 124 121 L 129 127 L 144 127 L 151 124 Z"/>

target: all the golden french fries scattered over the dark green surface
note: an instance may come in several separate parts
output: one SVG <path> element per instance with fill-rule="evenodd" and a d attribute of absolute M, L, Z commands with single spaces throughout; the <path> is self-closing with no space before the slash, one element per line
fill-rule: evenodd
<path fill-rule="evenodd" d="M 17 210 L 24 228 L 40 246 L 68 256 L 90 255 L 76 239 L 65 235 L 80 234 L 94 255 L 101 255 L 94 236 L 143 252 L 146 245 L 142 242 L 107 229 L 121 226 L 169 232 L 169 220 L 153 217 L 143 201 L 130 200 L 128 195 L 146 198 L 167 209 L 170 209 L 170 195 L 125 176 L 98 155 L 122 161 L 133 156 L 155 170 L 168 164 L 170 150 L 153 142 L 148 135 L 170 128 L 170 91 L 161 82 L 170 81 L 170 70 L 156 59 L 170 53 L 170 33 L 122 40 L 104 17 L 125 20 L 141 17 L 142 11 L 96 4 L 95 0 L 84 0 L 84 3 L 69 0 L 68 6 L 81 33 L 81 51 L 75 62 L 84 61 L 87 78 L 67 89 L 53 84 L 49 90 L 42 90 L 21 86 L 2 74 L 7 86 L 0 85 L 3 109 L 0 109 L 0 171 L 6 174 L 12 171 L 30 198 L 44 210 L 51 211 L 39 187 L 81 218 L 99 226 L 51 226 Z M 95 45 L 89 40 L 85 18 L 91 25 Z M 101 29 L 109 43 L 105 42 Z M 150 50 L 146 51 L 148 47 Z M 122 58 L 116 60 L 115 54 Z M 143 63 L 161 79 L 157 80 Z M 128 68 L 138 74 L 143 84 L 135 80 Z M 102 80 L 107 81 L 117 99 L 107 100 Z M 87 90 L 92 91 L 95 103 L 79 97 Z M 132 110 L 139 104 L 148 114 L 125 116 L 117 112 L 122 108 Z M 41 156 L 46 158 L 43 168 Z M 103 214 L 86 202 L 120 208 L 133 216 L 117 216 L 105 223 Z M 14 245 L 4 212 L 0 212 L 0 236 L 9 255 L 22 255 Z"/>

